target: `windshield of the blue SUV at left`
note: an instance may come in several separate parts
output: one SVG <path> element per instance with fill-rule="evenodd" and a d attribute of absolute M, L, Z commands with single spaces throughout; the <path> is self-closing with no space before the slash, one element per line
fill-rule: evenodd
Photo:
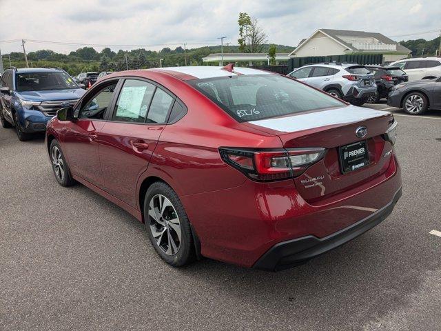
<path fill-rule="evenodd" d="M 65 72 L 32 72 L 17 74 L 17 91 L 67 90 L 79 88 Z"/>

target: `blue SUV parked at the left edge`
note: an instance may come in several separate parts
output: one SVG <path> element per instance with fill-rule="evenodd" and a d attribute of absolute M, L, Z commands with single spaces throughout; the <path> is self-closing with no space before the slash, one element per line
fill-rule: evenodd
<path fill-rule="evenodd" d="M 73 106 L 85 90 L 61 69 L 9 68 L 0 80 L 0 121 L 21 141 L 44 132 L 57 110 Z"/>

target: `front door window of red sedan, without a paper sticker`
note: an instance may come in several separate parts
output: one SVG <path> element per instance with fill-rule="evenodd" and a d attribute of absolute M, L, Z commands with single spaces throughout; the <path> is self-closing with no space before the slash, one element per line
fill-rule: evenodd
<path fill-rule="evenodd" d="M 112 102 L 115 87 L 116 82 L 96 92 L 96 94 L 81 107 L 79 119 L 104 119 L 105 111 Z"/>

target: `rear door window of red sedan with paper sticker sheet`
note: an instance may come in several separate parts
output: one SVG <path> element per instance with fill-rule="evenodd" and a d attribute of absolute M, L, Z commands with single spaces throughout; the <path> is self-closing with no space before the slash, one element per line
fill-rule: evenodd
<path fill-rule="evenodd" d="M 119 94 L 113 120 L 144 123 L 155 88 L 147 81 L 127 79 Z"/>

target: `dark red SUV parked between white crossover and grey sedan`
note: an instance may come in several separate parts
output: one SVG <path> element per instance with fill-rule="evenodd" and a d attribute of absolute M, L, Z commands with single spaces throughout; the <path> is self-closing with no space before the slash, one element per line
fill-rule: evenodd
<path fill-rule="evenodd" d="M 398 67 L 366 66 L 366 68 L 373 73 L 373 78 L 377 84 L 376 94 L 368 97 L 367 103 L 377 103 L 380 99 L 387 98 L 393 86 L 409 80 L 406 72 Z"/>

